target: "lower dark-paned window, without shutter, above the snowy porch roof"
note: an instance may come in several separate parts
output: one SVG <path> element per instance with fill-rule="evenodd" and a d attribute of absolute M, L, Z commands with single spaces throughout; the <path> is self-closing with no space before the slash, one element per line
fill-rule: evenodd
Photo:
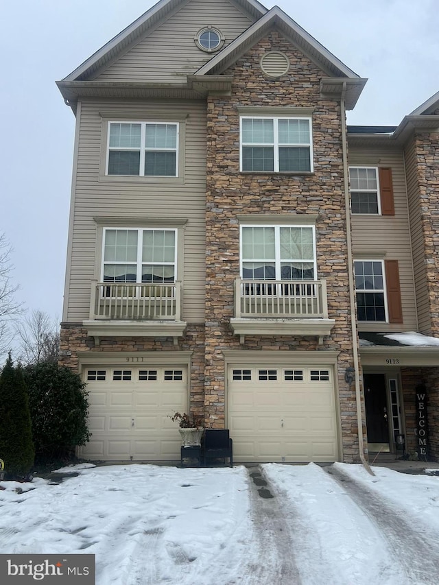
<path fill-rule="evenodd" d="M 355 261 L 355 289 L 359 321 L 386 321 L 383 261 Z"/>

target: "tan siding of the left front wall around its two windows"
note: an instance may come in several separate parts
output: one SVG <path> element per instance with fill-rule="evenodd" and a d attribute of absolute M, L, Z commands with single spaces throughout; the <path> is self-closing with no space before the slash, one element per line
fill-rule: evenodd
<path fill-rule="evenodd" d="M 111 112 L 121 120 L 129 116 L 139 120 L 154 119 L 154 111 L 169 110 L 172 116 L 185 121 L 184 181 L 170 178 L 113 182 L 99 177 L 102 152 L 101 114 Z M 204 320 L 205 280 L 205 195 L 206 195 L 206 106 L 203 102 L 82 102 L 79 132 L 78 167 L 75 176 L 75 204 L 71 246 L 71 269 L 67 275 L 68 305 L 64 318 L 80 322 L 88 318 L 90 287 L 93 278 L 101 278 L 101 241 L 94 217 L 172 218 L 187 219 L 184 229 L 184 274 L 182 319 L 188 322 Z M 178 181 L 178 182 L 177 182 Z M 134 224 L 133 224 L 134 226 Z M 139 227 L 143 227 L 140 224 Z M 180 246 L 179 246 L 180 250 Z"/>

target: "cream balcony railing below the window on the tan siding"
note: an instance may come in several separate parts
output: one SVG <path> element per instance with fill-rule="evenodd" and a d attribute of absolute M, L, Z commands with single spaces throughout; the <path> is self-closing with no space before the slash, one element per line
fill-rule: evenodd
<path fill-rule="evenodd" d="M 181 283 L 98 283 L 92 280 L 90 319 L 180 321 Z"/>

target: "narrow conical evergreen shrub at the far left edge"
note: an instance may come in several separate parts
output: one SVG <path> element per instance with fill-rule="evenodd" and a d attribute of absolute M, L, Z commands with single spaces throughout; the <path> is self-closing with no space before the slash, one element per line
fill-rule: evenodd
<path fill-rule="evenodd" d="M 22 478 L 34 465 L 29 402 L 20 366 L 9 355 L 0 374 L 0 459 L 8 479 Z"/>

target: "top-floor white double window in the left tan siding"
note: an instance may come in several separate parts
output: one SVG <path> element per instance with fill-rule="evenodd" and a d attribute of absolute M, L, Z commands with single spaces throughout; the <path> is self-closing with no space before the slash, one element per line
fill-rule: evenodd
<path fill-rule="evenodd" d="M 108 122 L 106 174 L 178 176 L 178 123 Z"/>

